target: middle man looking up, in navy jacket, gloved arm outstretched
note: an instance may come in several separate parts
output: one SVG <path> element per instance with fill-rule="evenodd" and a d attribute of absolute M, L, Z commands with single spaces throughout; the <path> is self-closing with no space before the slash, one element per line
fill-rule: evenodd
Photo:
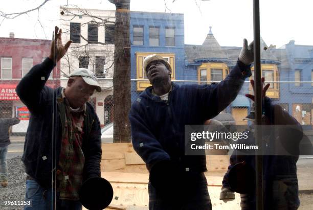
<path fill-rule="evenodd" d="M 185 156 L 185 125 L 203 125 L 236 98 L 251 76 L 253 43 L 243 48 L 236 66 L 218 84 L 171 82 L 172 68 L 159 55 L 148 56 L 143 69 L 152 84 L 132 104 L 129 119 L 133 148 L 150 172 L 149 209 L 212 209 L 204 172 L 206 157 Z"/>

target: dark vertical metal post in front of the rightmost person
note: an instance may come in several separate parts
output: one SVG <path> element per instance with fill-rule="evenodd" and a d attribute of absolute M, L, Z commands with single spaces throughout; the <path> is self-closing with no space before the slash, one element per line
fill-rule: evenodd
<path fill-rule="evenodd" d="M 261 125 L 262 118 L 262 86 L 261 86 L 261 49 L 260 49 L 260 2 L 253 0 L 253 33 L 254 33 L 254 94 L 255 94 L 255 119 Z M 256 144 L 262 151 L 262 134 L 256 126 Z M 263 157 L 258 152 L 255 158 L 256 170 L 256 209 L 263 210 Z"/>

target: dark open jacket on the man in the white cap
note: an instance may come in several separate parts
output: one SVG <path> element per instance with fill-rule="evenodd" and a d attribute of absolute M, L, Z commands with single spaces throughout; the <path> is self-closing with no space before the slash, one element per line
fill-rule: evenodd
<path fill-rule="evenodd" d="M 53 61 L 46 58 L 33 66 L 16 87 L 17 95 L 31 112 L 22 160 L 26 173 L 43 188 L 51 188 L 52 173 L 59 162 L 66 118 L 62 87 L 53 89 L 44 85 L 53 67 Z M 85 157 L 83 181 L 100 177 L 100 123 L 90 103 L 86 103 L 81 148 Z"/>

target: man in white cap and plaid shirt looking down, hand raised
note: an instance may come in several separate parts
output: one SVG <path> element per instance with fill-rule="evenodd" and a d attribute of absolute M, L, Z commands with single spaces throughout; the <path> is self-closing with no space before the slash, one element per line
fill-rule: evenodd
<path fill-rule="evenodd" d="M 101 177 L 100 122 L 88 103 L 101 86 L 94 73 L 78 68 L 66 87 L 45 85 L 72 41 L 61 42 L 55 27 L 50 55 L 33 66 L 17 85 L 31 116 L 24 154 L 25 209 L 82 209 L 79 191 L 84 181 Z"/>

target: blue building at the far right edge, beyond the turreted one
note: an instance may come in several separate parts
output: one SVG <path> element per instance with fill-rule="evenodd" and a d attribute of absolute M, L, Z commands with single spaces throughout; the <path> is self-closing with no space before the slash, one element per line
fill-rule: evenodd
<path fill-rule="evenodd" d="M 270 49 L 281 61 L 278 103 L 302 125 L 313 125 L 313 46 L 296 45 L 294 40 L 280 49 Z M 292 82 L 292 83 L 283 83 Z"/>

